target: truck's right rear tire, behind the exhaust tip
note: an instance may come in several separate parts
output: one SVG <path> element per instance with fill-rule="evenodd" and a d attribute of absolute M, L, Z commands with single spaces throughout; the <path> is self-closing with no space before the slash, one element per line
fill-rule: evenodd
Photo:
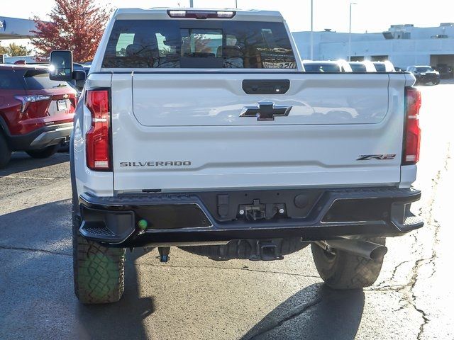
<path fill-rule="evenodd" d="M 385 243 L 384 237 L 367 240 L 382 245 Z M 320 277 L 333 289 L 369 287 L 375 283 L 382 269 L 383 258 L 374 261 L 336 249 L 331 254 L 314 243 L 311 250 Z"/>

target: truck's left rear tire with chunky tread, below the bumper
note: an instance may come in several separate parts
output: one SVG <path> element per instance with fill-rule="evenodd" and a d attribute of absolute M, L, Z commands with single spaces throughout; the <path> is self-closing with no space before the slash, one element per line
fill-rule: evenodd
<path fill-rule="evenodd" d="M 117 302 L 124 291 L 125 249 L 107 248 L 79 234 L 79 217 L 72 217 L 74 293 L 84 304 Z"/>

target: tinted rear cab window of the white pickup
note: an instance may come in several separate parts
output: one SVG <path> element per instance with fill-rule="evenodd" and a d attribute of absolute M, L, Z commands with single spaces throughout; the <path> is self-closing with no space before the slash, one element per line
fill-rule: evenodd
<path fill-rule="evenodd" d="M 296 69 L 284 23 L 117 20 L 104 68 Z"/>

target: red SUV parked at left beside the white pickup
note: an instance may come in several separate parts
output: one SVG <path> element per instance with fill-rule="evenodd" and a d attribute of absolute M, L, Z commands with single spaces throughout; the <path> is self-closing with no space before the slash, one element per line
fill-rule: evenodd
<path fill-rule="evenodd" d="M 46 158 L 69 140 L 76 91 L 43 66 L 0 64 L 0 169 L 13 151 Z"/>

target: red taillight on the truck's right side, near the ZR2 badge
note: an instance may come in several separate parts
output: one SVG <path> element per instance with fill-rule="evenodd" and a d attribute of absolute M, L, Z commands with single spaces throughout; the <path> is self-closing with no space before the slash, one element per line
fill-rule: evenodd
<path fill-rule="evenodd" d="M 414 87 L 406 88 L 403 165 L 416 164 L 419 161 L 419 145 L 421 142 L 419 108 L 421 108 L 421 92 Z"/>

